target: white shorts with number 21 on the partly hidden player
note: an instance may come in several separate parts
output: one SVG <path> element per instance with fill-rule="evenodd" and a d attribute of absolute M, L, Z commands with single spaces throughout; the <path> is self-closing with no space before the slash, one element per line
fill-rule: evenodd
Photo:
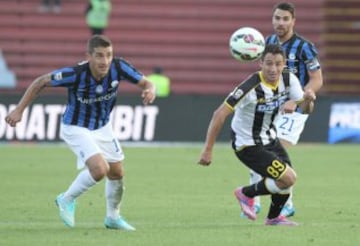
<path fill-rule="evenodd" d="M 279 115 L 275 120 L 277 137 L 293 145 L 297 144 L 308 117 L 309 115 L 298 112 Z"/>

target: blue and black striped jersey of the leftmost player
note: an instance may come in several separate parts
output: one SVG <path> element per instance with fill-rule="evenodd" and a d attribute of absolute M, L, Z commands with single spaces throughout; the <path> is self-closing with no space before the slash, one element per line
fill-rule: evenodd
<path fill-rule="evenodd" d="M 63 123 L 95 130 L 109 122 L 116 103 L 119 82 L 138 83 L 143 75 L 122 58 L 114 58 L 108 74 L 96 81 L 88 62 L 64 67 L 51 73 L 54 87 L 67 87 L 68 102 Z"/>

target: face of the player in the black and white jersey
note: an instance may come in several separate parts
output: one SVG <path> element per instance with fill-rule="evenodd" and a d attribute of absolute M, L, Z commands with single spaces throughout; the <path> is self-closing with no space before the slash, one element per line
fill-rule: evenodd
<path fill-rule="evenodd" d="M 284 69 L 285 58 L 281 54 L 267 53 L 260 66 L 265 81 L 275 85 Z"/>

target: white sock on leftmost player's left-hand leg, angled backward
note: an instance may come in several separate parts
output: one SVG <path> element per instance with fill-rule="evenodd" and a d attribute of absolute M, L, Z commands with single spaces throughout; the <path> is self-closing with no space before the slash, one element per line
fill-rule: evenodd
<path fill-rule="evenodd" d="M 89 170 L 86 168 L 82 170 L 67 191 L 64 193 L 65 201 L 73 201 L 79 197 L 82 193 L 90 189 L 96 184 L 96 181 L 91 176 Z"/>

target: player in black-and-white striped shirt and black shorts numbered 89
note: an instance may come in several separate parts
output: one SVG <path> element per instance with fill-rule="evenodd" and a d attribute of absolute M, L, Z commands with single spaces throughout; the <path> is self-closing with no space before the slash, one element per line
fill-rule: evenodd
<path fill-rule="evenodd" d="M 234 113 L 231 130 L 235 155 L 263 177 L 255 184 L 235 190 L 243 213 L 255 220 L 254 197 L 270 195 L 271 206 L 265 224 L 297 225 L 280 215 L 295 184 L 296 173 L 276 136 L 274 122 L 278 114 L 294 112 L 297 107 L 304 113 L 312 112 L 316 97 L 311 89 L 303 91 L 293 73 L 283 73 L 285 53 L 281 46 L 267 45 L 260 59 L 261 71 L 238 85 L 215 110 L 198 163 L 210 165 L 216 138 L 227 117 Z"/>

